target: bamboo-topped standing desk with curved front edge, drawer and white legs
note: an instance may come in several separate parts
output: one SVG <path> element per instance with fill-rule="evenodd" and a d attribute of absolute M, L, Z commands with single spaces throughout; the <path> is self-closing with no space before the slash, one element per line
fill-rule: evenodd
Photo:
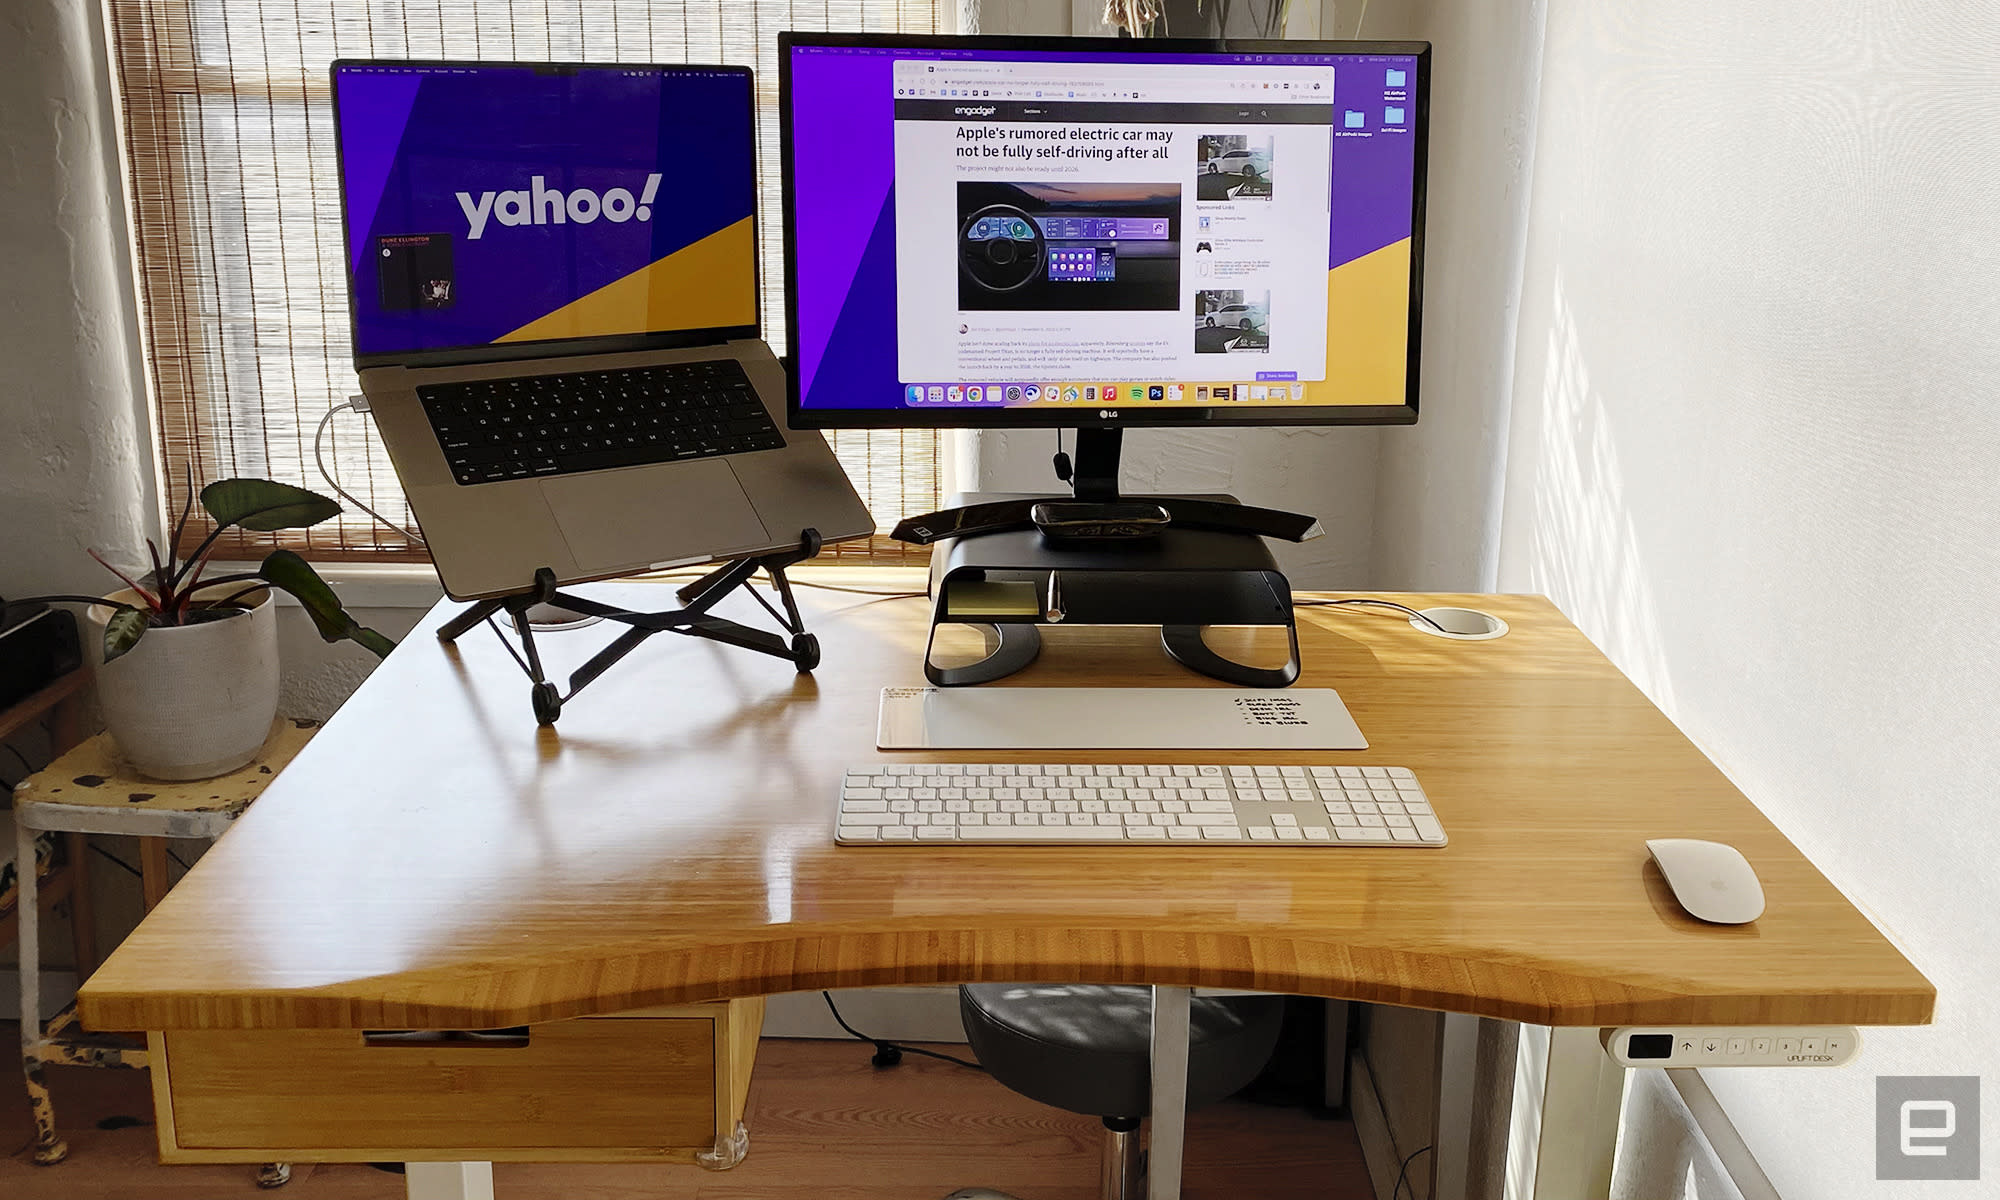
<path fill-rule="evenodd" d="M 632 588 L 652 586 L 600 594 L 644 608 Z M 660 638 L 560 728 L 534 726 L 496 638 L 440 646 L 454 606 L 432 612 L 82 990 L 92 1028 L 152 1032 L 162 1158 L 400 1158 L 428 1164 L 412 1196 L 454 1198 L 490 1194 L 488 1160 L 724 1166 L 752 998 L 1092 980 L 1156 986 L 1154 1200 L 1178 1192 L 1172 1032 L 1192 986 L 1442 1010 L 1462 1060 L 1482 1022 L 1556 1026 L 1560 1128 L 1544 1128 L 1534 1192 L 1574 1200 L 1610 1178 L 1622 1074 L 1602 1026 L 1930 1020 L 1930 982 L 1538 596 L 1402 596 L 1502 616 L 1512 632 L 1490 642 L 1300 610 L 1298 686 L 1338 688 L 1370 748 L 1282 760 L 1414 768 L 1442 850 L 836 848 L 840 774 L 880 758 L 878 690 L 922 682 L 926 604 L 800 598 L 826 648 L 816 674 Z M 1050 634 L 996 686 L 1220 686 L 1168 662 L 1152 630 Z M 544 650 L 574 664 L 610 636 Z M 1652 836 L 1738 846 L 1768 912 L 1730 928 L 1684 916 Z M 382 1036 L 500 1026 L 530 1028 L 470 1046 Z M 642 1050 L 608 1052 L 606 1030 Z M 312 1092 L 274 1094 L 274 1062 Z M 618 1090 L 646 1102 L 602 1102 Z M 664 1124 L 630 1116 L 678 1094 Z M 1462 1096 L 1440 1102 L 1434 1194 L 1464 1190 L 1476 1124 Z M 302 1136 L 318 1144 L 280 1144 Z"/>

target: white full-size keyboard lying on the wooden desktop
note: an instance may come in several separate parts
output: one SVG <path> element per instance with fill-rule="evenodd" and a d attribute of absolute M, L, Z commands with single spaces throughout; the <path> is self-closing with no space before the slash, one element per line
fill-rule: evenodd
<path fill-rule="evenodd" d="M 1404 766 L 896 762 L 840 784 L 842 846 L 1444 846 Z"/>

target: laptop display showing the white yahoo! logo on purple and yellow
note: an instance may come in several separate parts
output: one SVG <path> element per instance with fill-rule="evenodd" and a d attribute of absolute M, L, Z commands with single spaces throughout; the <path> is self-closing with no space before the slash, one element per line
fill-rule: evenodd
<path fill-rule="evenodd" d="M 756 336 L 746 68 L 336 62 L 354 354 Z"/>

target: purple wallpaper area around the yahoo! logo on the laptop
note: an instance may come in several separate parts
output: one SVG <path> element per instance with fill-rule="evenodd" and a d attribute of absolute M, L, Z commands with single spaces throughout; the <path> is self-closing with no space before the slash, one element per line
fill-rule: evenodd
<path fill-rule="evenodd" d="M 756 212 L 742 72 L 520 66 L 336 68 L 356 354 L 488 344 Z M 634 74 L 636 72 L 636 74 Z M 660 172 L 652 220 L 502 226 L 466 236 L 456 192 L 626 188 Z M 378 236 L 452 234 L 454 304 L 384 312 Z"/>

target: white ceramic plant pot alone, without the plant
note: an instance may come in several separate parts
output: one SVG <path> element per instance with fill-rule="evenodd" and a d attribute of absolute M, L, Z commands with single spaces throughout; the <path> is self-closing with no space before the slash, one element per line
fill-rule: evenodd
<path fill-rule="evenodd" d="M 220 584 L 228 596 L 242 584 Z M 106 600 L 136 600 L 114 592 Z M 104 662 L 104 622 L 90 608 L 90 656 L 112 738 L 156 780 L 206 780 L 256 758 L 278 716 L 278 606 L 252 592 L 254 608 L 192 626 L 150 628 L 138 646 Z"/>

